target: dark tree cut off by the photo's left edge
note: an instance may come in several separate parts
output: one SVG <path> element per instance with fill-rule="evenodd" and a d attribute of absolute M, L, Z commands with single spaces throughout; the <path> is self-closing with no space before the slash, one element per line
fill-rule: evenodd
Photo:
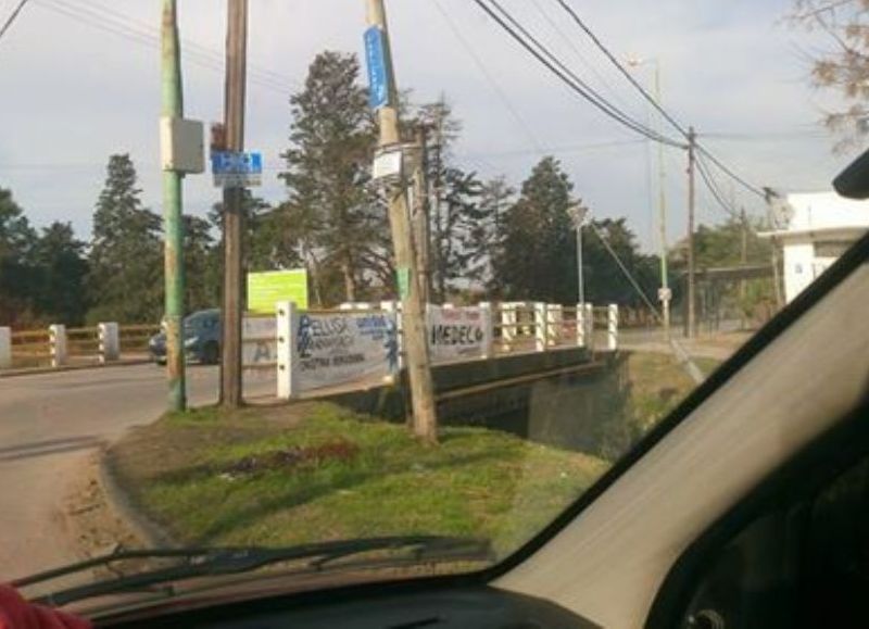
<path fill-rule="evenodd" d="M 12 191 L 0 188 L 0 325 L 33 316 L 35 242 L 36 232 Z"/>

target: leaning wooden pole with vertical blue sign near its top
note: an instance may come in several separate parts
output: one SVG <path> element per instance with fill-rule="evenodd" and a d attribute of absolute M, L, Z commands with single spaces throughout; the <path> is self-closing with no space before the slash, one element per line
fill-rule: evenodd
<path fill-rule="evenodd" d="M 386 56 L 389 99 L 387 104 L 380 106 L 377 112 L 380 123 L 380 147 L 396 147 L 401 144 L 396 110 L 398 89 L 389 45 L 386 8 L 383 7 L 383 0 L 366 0 L 366 7 L 368 26 L 380 30 Z M 431 381 L 425 310 L 421 299 L 423 291 L 419 286 L 419 274 L 416 269 L 405 181 L 402 180 L 399 186 L 389 188 L 388 198 L 389 223 L 392 230 L 392 246 L 395 251 L 399 297 L 402 303 L 404 350 L 411 383 L 412 424 L 414 433 L 417 437 L 428 443 L 434 443 L 438 440 L 434 387 Z"/>

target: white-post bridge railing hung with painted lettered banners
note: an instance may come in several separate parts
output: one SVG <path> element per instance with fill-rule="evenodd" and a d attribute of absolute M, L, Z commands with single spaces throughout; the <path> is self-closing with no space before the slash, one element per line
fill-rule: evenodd
<path fill-rule="evenodd" d="M 401 306 L 347 303 L 302 311 L 280 303 L 274 317 L 247 318 L 243 363 L 274 374 L 277 397 L 394 378 L 404 366 Z M 562 306 L 534 302 L 429 304 L 426 335 L 432 364 L 494 358 L 525 352 L 618 348 L 618 306 Z"/>

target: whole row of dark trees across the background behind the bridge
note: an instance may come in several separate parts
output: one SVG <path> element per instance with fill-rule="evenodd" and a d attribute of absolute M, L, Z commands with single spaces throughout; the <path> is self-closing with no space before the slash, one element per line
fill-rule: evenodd
<path fill-rule="evenodd" d="M 370 181 L 376 122 L 360 74 L 353 54 L 323 52 L 314 59 L 303 88 L 289 100 L 291 124 L 279 175 L 286 198 L 269 204 L 248 194 L 244 206 L 248 269 L 304 266 L 317 306 L 395 294 L 385 199 Z M 444 99 L 417 105 L 412 95 L 403 95 L 401 119 L 405 140 L 420 126 L 429 131 L 424 167 L 433 299 L 576 303 L 570 209 L 581 199 L 558 160 L 541 159 L 514 189 L 503 177 L 484 179 L 456 163 L 452 149 L 462 125 Z M 185 217 L 190 311 L 219 302 L 222 216 L 218 203 L 205 218 Z M 732 226 L 703 229 L 716 235 L 711 250 L 739 254 Z M 607 249 L 655 301 L 658 259 L 640 251 L 625 218 L 595 219 L 584 234 L 588 301 L 643 303 Z M 0 325 L 159 320 L 162 237 L 161 218 L 142 204 L 127 154 L 109 159 L 88 241 L 76 238 L 67 223 L 34 228 L 11 190 L 0 188 Z"/>

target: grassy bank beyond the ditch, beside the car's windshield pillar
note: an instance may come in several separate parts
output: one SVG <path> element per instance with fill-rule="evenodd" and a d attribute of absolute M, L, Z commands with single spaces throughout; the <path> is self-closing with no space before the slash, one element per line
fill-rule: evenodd
<path fill-rule="evenodd" d="M 693 358 L 704 376 L 721 361 Z M 628 358 L 631 386 L 630 405 L 634 422 L 646 432 L 666 417 L 697 385 L 671 354 L 633 352 Z"/>

